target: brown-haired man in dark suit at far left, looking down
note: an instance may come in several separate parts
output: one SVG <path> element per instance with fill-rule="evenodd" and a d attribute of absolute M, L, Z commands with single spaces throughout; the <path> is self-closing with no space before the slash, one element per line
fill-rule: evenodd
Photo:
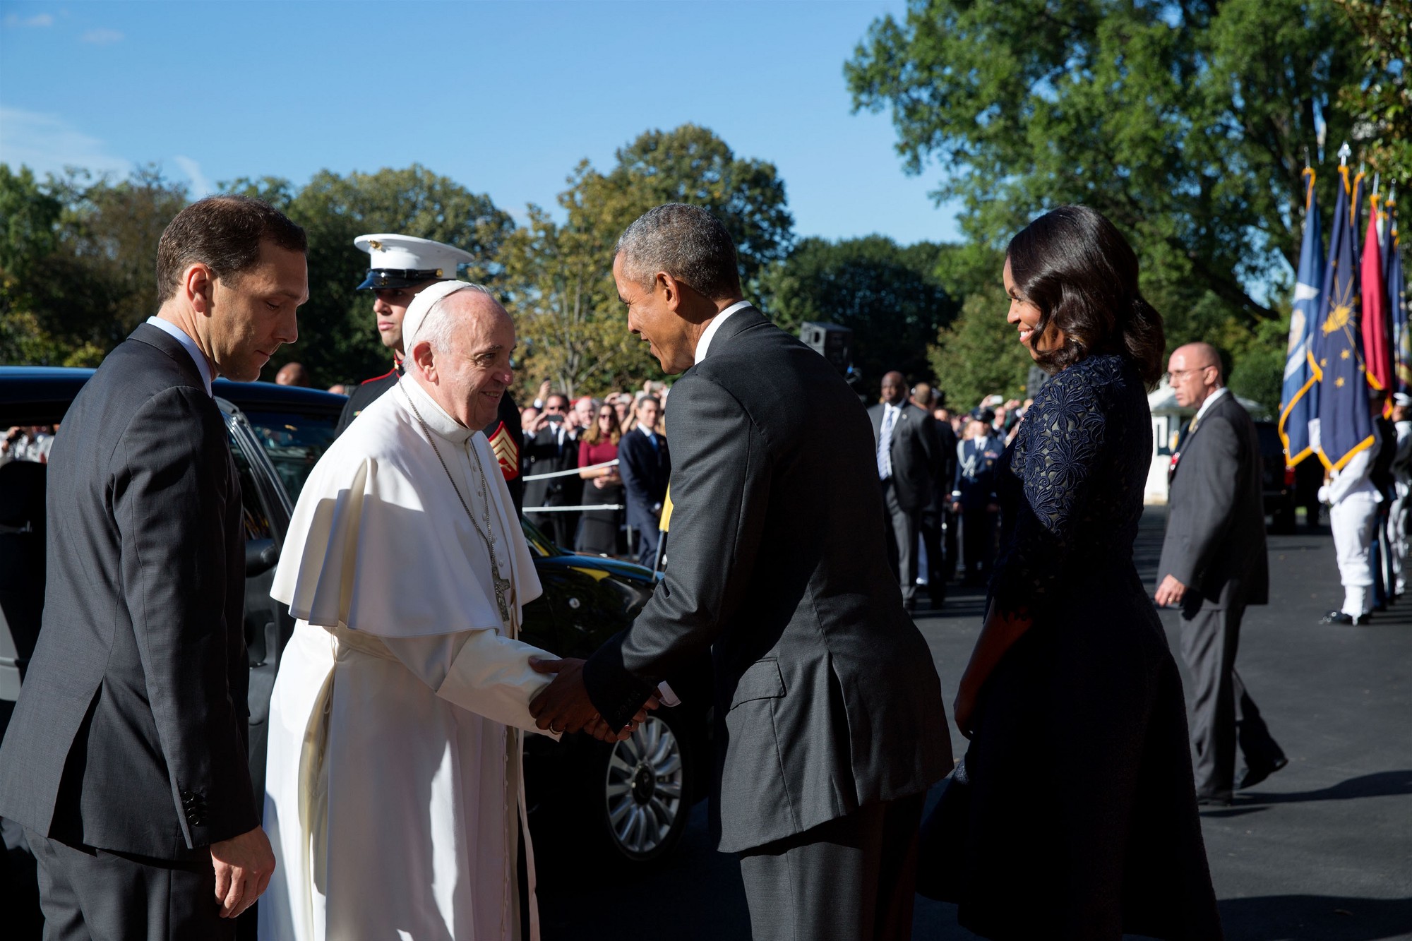
<path fill-rule="evenodd" d="M 215 376 L 297 339 L 304 230 L 213 196 L 157 249 L 157 316 L 75 397 L 49 458 L 42 630 L 0 747 L 47 938 L 229 938 L 264 892 L 247 742 L 244 519 Z"/>

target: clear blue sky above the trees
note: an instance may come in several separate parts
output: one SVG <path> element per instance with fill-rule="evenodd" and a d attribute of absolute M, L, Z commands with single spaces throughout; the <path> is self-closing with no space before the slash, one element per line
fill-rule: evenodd
<path fill-rule="evenodd" d="M 234 177 L 421 162 L 522 218 L 580 158 L 705 124 L 774 161 L 799 235 L 956 240 L 843 62 L 902 0 L 0 0 L 0 161 L 195 194 Z"/>

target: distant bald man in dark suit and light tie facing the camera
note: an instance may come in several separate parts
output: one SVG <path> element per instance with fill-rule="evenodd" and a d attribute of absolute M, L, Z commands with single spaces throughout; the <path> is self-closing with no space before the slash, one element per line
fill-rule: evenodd
<path fill-rule="evenodd" d="M 902 585 L 902 606 L 916 608 L 916 535 L 932 499 L 936 472 L 936 420 L 907 400 L 907 380 L 882 377 L 882 397 L 868 408 L 873 448 L 882 483 L 882 521 L 888 558 Z"/>

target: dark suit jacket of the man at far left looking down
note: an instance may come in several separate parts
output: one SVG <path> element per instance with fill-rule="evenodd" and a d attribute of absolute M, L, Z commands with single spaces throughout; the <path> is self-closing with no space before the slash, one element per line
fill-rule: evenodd
<path fill-rule="evenodd" d="M 199 859 L 260 814 L 240 480 L 181 343 L 138 326 L 73 400 L 48 466 L 44 622 L 0 747 L 0 815 Z"/>

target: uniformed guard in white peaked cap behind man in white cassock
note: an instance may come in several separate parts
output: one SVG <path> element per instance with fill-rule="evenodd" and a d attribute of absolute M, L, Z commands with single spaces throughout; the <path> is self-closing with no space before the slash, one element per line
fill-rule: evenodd
<path fill-rule="evenodd" d="M 390 232 L 359 236 L 353 239 L 353 244 L 369 253 L 367 277 L 357 290 L 373 292 L 377 335 L 393 353 L 393 367 L 381 376 L 364 379 L 353 389 L 339 417 L 339 434 L 401 377 L 402 316 L 412 298 L 438 281 L 456 280 L 457 268 L 476 260 L 476 256 L 453 244 Z M 518 510 L 524 502 L 524 482 L 520 479 L 524 434 L 520 430 L 520 410 L 508 391 L 500 400 L 496 420 L 484 431 Z"/>

